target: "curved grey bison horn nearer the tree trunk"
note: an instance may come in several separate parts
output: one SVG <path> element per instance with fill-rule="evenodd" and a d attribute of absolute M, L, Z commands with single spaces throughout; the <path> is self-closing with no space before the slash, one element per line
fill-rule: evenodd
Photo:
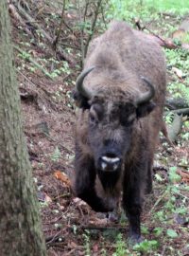
<path fill-rule="evenodd" d="M 94 69 L 94 66 L 89 67 L 85 70 L 83 70 L 80 75 L 77 77 L 77 82 L 76 82 L 76 87 L 77 87 L 77 91 L 84 97 L 86 97 L 87 99 L 91 99 L 92 98 L 92 92 L 90 92 L 89 90 L 87 90 L 87 88 L 84 88 L 83 86 L 83 80 L 85 79 L 85 77 Z"/>

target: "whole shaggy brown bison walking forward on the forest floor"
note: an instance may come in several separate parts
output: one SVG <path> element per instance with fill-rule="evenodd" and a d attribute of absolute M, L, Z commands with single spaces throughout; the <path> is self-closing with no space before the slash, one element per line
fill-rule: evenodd
<path fill-rule="evenodd" d="M 162 49 L 124 22 L 92 41 L 74 92 L 74 191 L 93 210 L 110 211 L 123 194 L 129 237 L 141 240 L 143 194 L 152 190 L 152 164 L 163 123 Z"/>

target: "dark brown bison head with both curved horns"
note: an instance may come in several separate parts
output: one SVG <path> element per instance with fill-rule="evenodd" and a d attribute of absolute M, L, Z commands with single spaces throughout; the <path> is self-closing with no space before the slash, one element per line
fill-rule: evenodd
<path fill-rule="evenodd" d="M 112 86 L 90 91 L 83 85 L 84 78 L 94 69 L 84 70 L 77 78 L 77 94 L 82 107 L 89 109 L 88 137 L 94 155 L 95 168 L 101 172 L 115 173 L 121 170 L 123 159 L 129 155 L 138 119 L 152 111 L 155 104 L 154 86 L 146 83 L 147 91 L 133 100 L 128 97 L 127 87 Z"/>

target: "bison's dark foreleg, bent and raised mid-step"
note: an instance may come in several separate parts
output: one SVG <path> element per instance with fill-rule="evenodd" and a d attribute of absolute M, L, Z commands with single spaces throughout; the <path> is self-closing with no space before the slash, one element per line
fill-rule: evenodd
<path fill-rule="evenodd" d="M 79 198 L 84 200 L 95 211 L 107 212 L 103 200 L 97 196 L 94 188 L 95 169 L 94 161 L 90 158 L 82 158 L 76 161 L 75 192 Z"/>

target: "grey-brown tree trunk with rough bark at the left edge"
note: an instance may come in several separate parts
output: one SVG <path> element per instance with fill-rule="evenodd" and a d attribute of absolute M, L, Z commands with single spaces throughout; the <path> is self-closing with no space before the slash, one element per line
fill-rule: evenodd
<path fill-rule="evenodd" d="M 9 38 L 7 0 L 0 1 L 0 255 L 46 255 L 37 196 L 22 130 Z"/>

